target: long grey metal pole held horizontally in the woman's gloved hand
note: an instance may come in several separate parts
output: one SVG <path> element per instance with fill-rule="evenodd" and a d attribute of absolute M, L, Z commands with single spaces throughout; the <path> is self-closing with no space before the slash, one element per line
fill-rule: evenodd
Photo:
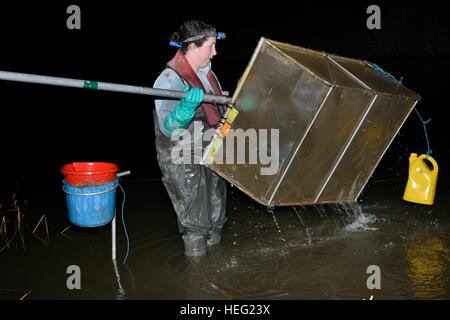
<path fill-rule="evenodd" d="M 62 86 L 62 87 L 126 92 L 126 93 L 143 94 L 155 97 L 174 98 L 174 99 L 182 99 L 186 97 L 187 94 L 184 91 L 177 91 L 177 90 L 156 89 L 118 83 L 97 82 L 97 81 L 43 76 L 37 74 L 19 73 L 10 71 L 0 71 L 0 80 L 48 84 L 52 86 Z M 203 101 L 217 104 L 227 104 L 231 102 L 231 97 L 205 94 Z"/>

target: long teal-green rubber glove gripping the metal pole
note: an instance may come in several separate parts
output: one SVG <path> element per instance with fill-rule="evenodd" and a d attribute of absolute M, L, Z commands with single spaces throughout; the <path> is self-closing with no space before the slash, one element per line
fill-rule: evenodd
<path fill-rule="evenodd" d="M 203 101 L 203 90 L 185 86 L 187 92 L 185 98 L 181 99 L 175 109 L 164 119 L 164 131 L 168 134 L 176 129 L 187 128 L 195 115 L 195 110 Z"/>

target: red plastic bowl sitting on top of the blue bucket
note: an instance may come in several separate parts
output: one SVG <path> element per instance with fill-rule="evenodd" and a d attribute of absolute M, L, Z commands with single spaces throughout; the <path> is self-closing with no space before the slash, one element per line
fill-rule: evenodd
<path fill-rule="evenodd" d="M 89 187 L 114 181 L 119 166 L 108 162 L 72 162 L 64 165 L 61 172 L 68 184 Z"/>

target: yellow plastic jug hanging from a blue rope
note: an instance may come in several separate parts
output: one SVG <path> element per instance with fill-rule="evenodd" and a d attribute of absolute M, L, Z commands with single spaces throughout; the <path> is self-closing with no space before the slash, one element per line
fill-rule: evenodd
<path fill-rule="evenodd" d="M 432 205 L 439 167 L 436 160 L 428 156 L 427 160 L 433 165 L 433 169 L 430 169 L 424 162 L 425 158 L 427 158 L 425 154 L 417 156 L 417 153 L 411 153 L 409 156 L 409 175 L 403 200 Z"/>

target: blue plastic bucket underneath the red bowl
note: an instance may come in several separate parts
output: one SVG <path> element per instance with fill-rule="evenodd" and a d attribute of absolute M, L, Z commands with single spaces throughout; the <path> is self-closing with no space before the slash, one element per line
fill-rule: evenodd
<path fill-rule="evenodd" d="M 70 222 L 80 227 L 99 227 L 114 218 L 118 179 L 84 188 L 74 187 L 65 180 L 63 184 Z"/>

